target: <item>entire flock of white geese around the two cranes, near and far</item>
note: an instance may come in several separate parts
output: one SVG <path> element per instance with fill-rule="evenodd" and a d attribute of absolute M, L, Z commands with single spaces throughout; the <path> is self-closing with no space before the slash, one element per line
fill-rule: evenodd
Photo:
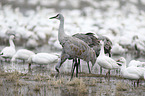
<path fill-rule="evenodd" d="M 107 12 L 90 7 L 86 7 L 83 12 L 77 9 L 63 10 L 61 13 L 66 17 L 65 32 L 68 35 L 93 32 L 96 37 L 97 34 L 107 36 L 113 42 L 112 54 L 122 54 L 129 49 L 136 49 L 144 54 L 145 13 L 131 12 L 126 16 L 123 9 L 115 10 L 116 7 L 108 9 Z M 12 9 L 10 5 L 1 6 L 0 38 L 1 40 L 7 39 L 8 34 L 15 34 L 9 38 L 10 46 L 1 50 L 1 56 L 5 59 L 12 58 L 12 62 L 16 59 L 28 60 L 30 65 L 31 63 L 49 64 L 56 62 L 59 58 L 56 54 L 35 54 L 27 49 L 16 51 L 13 43 L 13 39 L 16 37 L 16 40 L 27 40 L 25 47 L 36 48 L 41 44 L 48 43 L 54 48 L 61 49 L 57 39 L 58 23 L 55 20 L 49 20 L 49 17 L 56 13 L 54 9 L 37 7 L 36 11 L 30 10 L 24 15 L 19 8 Z M 103 43 L 102 46 L 104 46 Z M 120 68 L 123 77 L 128 79 L 145 79 L 145 62 L 132 60 L 127 66 L 125 58 L 121 57 L 116 62 L 106 56 L 103 50 L 102 47 L 97 58 L 97 63 L 100 66 L 108 70 Z M 118 66 L 117 63 L 122 66 Z"/>

